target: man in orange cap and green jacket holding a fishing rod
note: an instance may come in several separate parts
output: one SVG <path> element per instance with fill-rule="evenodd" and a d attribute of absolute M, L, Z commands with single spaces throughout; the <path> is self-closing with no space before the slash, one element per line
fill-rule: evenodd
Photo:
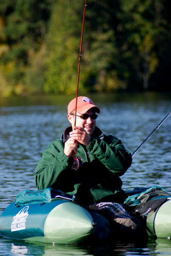
<path fill-rule="evenodd" d="M 36 167 L 36 185 L 62 190 L 82 205 L 123 203 L 119 176 L 131 165 L 132 156 L 120 140 L 96 126 L 100 108 L 91 99 L 78 97 L 75 107 L 73 99 L 68 105 L 71 126 L 44 151 Z"/>

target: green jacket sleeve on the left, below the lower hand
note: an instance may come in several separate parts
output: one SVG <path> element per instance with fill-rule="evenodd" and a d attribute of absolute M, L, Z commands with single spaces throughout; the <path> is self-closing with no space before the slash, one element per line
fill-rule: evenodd
<path fill-rule="evenodd" d="M 57 139 L 44 151 L 34 174 L 38 189 L 52 187 L 60 173 L 69 166 L 69 157 L 63 153 L 63 148 L 62 141 Z"/>

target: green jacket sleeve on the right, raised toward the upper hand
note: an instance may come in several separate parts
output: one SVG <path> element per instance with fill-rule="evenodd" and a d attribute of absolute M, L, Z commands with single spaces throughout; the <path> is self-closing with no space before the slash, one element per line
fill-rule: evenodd
<path fill-rule="evenodd" d="M 131 153 L 112 135 L 104 135 L 103 140 L 93 138 L 87 146 L 87 151 L 118 176 L 123 175 L 132 164 Z"/>

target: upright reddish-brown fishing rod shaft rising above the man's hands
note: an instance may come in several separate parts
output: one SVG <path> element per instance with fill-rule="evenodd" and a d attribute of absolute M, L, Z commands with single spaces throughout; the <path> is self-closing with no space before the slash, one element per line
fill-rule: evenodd
<path fill-rule="evenodd" d="M 75 107 L 75 111 L 76 111 L 76 113 L 75 113 L 75 122 L 74 122 L 74 126 L 76 126 L 76 117 L 77 117 L 77 99 L 78 99 L 79 71 L 80 71 L 80 63 L 81 63 L 81 58 L 82 58 L 82 44 L 83 44 L 84 21 L 85 21 L 86 7 L 87 7 L 87 0 L 85 0 L 85 4 L 84 4 L 84 15 L 83 15 L 83 25 L 82 25 L 82 36 L 81 36 L 80 49 L 79 49 L 78 77 L 77 77 L 77 91 L 76 91 L 76 107 Z"/>

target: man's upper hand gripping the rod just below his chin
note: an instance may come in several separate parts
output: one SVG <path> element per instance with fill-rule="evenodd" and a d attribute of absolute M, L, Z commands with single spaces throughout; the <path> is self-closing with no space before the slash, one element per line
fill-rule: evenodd
<path fill-rule="evenodd" d="M 76 140 L 78 143 L 85 145 L 86 147 L 91 140 L 91 136 L 80 126 L 75 126 L 74 130 L 69 133 L 70 138 Z"/>

